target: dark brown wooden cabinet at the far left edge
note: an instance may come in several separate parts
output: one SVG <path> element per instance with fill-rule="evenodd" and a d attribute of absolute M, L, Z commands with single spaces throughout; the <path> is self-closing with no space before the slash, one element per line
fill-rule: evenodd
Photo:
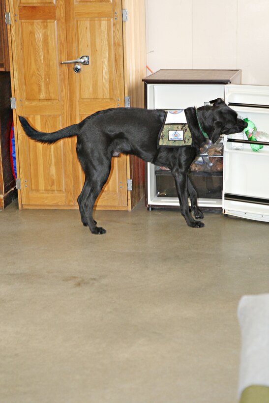
<path fill-rule="evenodd" d="M 0 0 L 0 209 L 17 197 L 10 163 L 11 83 L 4 1 Z"/>

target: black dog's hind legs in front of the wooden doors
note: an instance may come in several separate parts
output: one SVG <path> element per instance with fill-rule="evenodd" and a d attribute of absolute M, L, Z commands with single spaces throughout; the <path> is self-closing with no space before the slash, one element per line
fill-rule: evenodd
<path fill-rule="evenodd" d="M 107 161 L 106 165 L 99 166 L 98 172 L 89 174 L 85 173 L 85 183 L 81 194 L 78 197 L 79 210 L 81 221 L 84 226 L 88 226 L 93 234 L 103 234 L 106 230 L 96 226 L 96 221 L 93 220 L 93 206 L 106 183 L 111 168 L 111 161 Z"/>

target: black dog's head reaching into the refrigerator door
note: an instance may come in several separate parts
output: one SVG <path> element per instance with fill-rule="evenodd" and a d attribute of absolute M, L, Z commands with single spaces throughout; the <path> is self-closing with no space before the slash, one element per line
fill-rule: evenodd
<path fill-rule="evenodd" d="M 239 133 L 247 127 L 247 123 L 238 118 L 237 113 L 229 108 L 221 98 L 210 101 L 207 106 L 197 109 L 199 123 L 215 143 L 221 134 Z"/>

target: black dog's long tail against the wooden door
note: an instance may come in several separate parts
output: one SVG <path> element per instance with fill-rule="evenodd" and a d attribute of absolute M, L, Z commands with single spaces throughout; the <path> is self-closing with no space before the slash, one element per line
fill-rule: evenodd
<path fill-rule="evenodd" d="M 19 119 L 27 136 L 40 143 L 53 144 L 65 137 L 77 136 L 79 133 L 78 124 L 72 124 L 71 126 L 65 127 L 64 129 L 57 130 L 57 132 L 44 133 L 39 132 L 38 130 L 35 130 L 33 127 L 31 127 L 28 121 L 23 116 L 19 116 Z"/>

